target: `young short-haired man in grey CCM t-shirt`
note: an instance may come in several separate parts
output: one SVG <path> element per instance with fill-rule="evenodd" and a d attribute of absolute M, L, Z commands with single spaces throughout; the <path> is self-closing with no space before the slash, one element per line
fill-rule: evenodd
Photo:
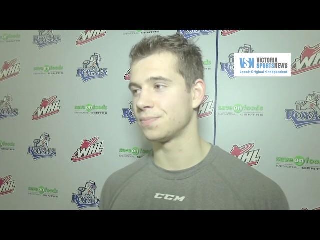
<path fill-rule="evenodd" d="M 199 136 L 199 47 L 151 36 L 130 58 L 133 110 L 153 153 L 111 174 L 100 209 L 288 209 L 274 181 Z"/>

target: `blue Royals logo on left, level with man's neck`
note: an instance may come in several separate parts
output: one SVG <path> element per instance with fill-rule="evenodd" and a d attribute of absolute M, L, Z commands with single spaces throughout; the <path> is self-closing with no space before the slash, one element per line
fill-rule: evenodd
<path fill-rule="evenodd" d="M 56 155 L 55 148 L 49 148 L 49 141 L 49 134 L 44 132 L 41 134 L 40 139 L 33 141 L 33 146 L 28 146 L 28 154 L 32 155 L 33 160 Z"/>

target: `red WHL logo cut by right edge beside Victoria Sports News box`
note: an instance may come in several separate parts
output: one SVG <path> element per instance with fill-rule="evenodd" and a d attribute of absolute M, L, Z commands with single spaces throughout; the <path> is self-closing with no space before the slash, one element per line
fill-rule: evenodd
<path fill-rule="evenodd" d="M 320 43 L 315 46 L 304 46 L 300 57 L 291 64 L 291 76 L 320 67 Z"/>

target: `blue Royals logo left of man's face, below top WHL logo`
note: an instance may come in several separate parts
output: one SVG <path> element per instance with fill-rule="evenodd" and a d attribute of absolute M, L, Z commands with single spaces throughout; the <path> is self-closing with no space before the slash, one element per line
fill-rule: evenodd
<path fill-rule="evenodd" d="M 108 75 L 107 68 L 100 68 L 102 58 L 99 53 L 91 55 L 90 60 L 83 61 L 83 67 L 78 67 L 76 76 L 80 76 L 83 82 L 94 78 L 103 78 Z"/>

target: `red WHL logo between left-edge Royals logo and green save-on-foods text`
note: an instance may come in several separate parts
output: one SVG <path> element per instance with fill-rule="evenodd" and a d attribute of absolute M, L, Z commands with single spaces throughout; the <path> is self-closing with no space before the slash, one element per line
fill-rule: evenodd
<path fill-rule="evenodd" d="M 47 117 L 47 116 L 58 113 L 60 110 L 60 106 L 59 106 L 60 101 L 55 101 L 55 100 L 56 100 L 56 96 L 51 96 L 48 99 L 43 98 L 40 104 L 40 107 L 38 107 L 33 113 L 32 120 L 38 120 L 43 117 Z"/>

